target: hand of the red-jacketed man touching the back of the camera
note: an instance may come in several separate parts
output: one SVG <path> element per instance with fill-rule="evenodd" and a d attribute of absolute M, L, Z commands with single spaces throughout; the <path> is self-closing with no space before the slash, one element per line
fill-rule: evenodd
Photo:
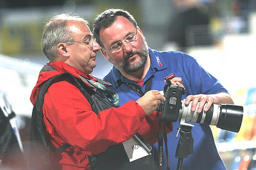
<path fill-rule="evenodd" d="M 144 109 L 147 115 L 150 115 L 157 110 L 160 103 L 165 98 L 160 94 L 158 90 L 148 91 L 143 97 L 140 97 L 136 102 Z"/>

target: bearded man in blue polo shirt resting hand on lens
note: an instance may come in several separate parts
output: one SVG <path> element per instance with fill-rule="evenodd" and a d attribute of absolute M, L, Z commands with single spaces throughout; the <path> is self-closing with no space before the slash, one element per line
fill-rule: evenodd
<path fill-rule="evenodd" d="M 227 90 L 191 56 L 180 51 L 160 52 L 148 48 L 143 32 L 127 11 L 109 9 L 101 13 L 94 24 L 94 36 L 102 54 L 114 66 L 104 80 L 113 84 L 111 90 L 118 93 L 121 105 L 138 99 L 150 86 L 152 90 L 163 90 L 164 77 L 171 73 L 176 76 L 172 83 L 185 87 L 182 98 L 186 99 L 186 106 L 192 102 L 192 111 L 208 111 L 212 103 L 233 104 Z M 191 124 L 194 125 L 193 154 L 184 159 L 184 170 L 224 170 L 209 125 Z M 179 141 L 176 129 L 179 127 L 179 122 L 173 122 L 174 130 L 167 135 L 171 170 L 176 169 L 178 163 L 175 152 Z M 158 144 L 155 144 L 153 155 L 157 152 Z M 157 156 L 155 160 L 158 162 Z M 165 166 L 164 162 L 163 168 Z"/>

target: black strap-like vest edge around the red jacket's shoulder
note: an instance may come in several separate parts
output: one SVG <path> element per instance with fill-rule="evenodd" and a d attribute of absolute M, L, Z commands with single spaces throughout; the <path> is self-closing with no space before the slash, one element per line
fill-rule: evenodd
<path fill-rule="evenodd" d="M 39 141 L 43 146 L 46 146 L 47 149 L 49 149 L 49 143 L 44 135 L 43 132 L 43 102 L 44 102 L 44 96 L 47 92 L 48 88 L 55 82 L 58 81 L 71 81 L 72 83 L 75 83 L 75 86 L 81 91 L 81 93 L 88 99 L 89 102 L 92 100 L 89 99 L 89 93 L 94 93 L 93 90 L 87 89 L 87 91 L 84 89 L 86 87 L 82 87 L 82 85 L 79 83 L 79 81 L 70 73 L 62 73 L 53 76 L 49 80 L 47 80 L 42 87 L 40 88 L 40 91 L 37 95 L 37 98 L 34 103 L 33 111 L 32 111 L 32 125 L 31 125 L 31 134 L 30 138 L 32 141 Z M 66 148 L 70 147 L 70 144 L 65 144 L 64 146 L 61 146 L 56 149 L 57 152 L 62 152 Z"/>

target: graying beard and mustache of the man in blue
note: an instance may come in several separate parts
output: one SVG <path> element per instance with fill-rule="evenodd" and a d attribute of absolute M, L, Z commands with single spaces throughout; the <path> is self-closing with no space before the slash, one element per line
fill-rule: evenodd
<path fill-rule="evenodd" d="M 114 65 L 114 67 L 121 71 L 121 72 L 124 72 L 124 73 L 135 73 L 137 71 L 139 71 L 141 68 L 143 68 L 147 62 L 147 58 L 148 58 L 148 45 L 147 43 L 144 41 L 144 48 L 141 49 L 140 51 L 132 51 L 131 53 L 129 53 L 128 55 L 126 55 L 124 57 L 124 61 L 119 63 L 119 64 L 116 64 L 113 62 L 113 60 L 110 58 L 110 62 Z M 128 64 L 126 58 L 128 58 L 129 56 L 131 55 L 134 55 L 134 54 L 138 54 L 140 56 L 140 61 L 133 64 L 133 65 L 130 65 Z"/>

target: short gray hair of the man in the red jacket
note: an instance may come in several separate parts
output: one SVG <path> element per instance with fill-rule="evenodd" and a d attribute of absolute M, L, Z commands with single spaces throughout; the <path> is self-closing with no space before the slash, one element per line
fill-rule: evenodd
<path fill-rule="evenodd" d="M 68 26 L 68 21 L 76 21 L 88 25 L 88 21 L 79 16 L 61 14 L 53 17 L 45 26 L 42 36 L 42 52 L 50 62 L 57 59 L 57 45 L 64 41 L 72 41 L 74 33 Z"/>

